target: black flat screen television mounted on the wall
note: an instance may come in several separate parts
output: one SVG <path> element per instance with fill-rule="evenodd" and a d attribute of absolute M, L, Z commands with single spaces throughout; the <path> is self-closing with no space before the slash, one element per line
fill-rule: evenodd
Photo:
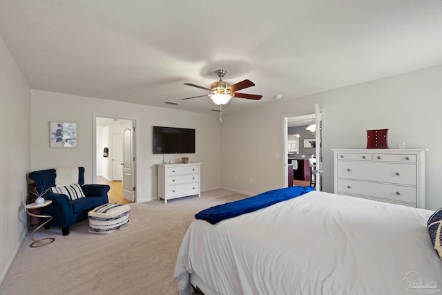
<path fill-rule="evenodd" d="M 153 126 L 153 153 L 195 153 L 195 129 Z"/>

